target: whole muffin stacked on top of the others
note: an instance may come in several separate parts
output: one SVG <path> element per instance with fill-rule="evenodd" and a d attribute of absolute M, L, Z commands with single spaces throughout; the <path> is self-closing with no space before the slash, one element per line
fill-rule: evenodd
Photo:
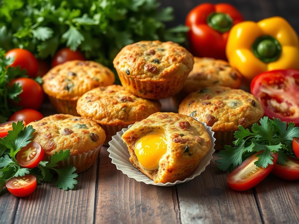
<path fill-rule="evenodd" d="M 173 42 L 141 41 L 123 47 L 113 65 L 126 90 L 146 99 L 173 96 L 193 67 L 193 56 Z"/>

